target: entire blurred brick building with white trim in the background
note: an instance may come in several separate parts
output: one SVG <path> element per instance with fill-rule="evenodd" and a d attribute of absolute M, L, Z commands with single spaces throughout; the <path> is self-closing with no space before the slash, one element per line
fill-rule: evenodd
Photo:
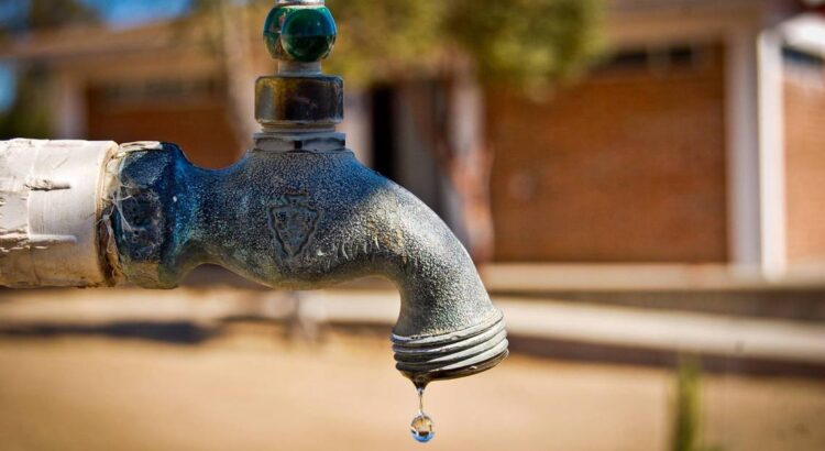
<path fill-rule="evenodd" d="M 814 3 L 612 0 L 612 57 L 582 80 L 542 100 L 485 92 L 496 260 L 768 275 L 824 262 L 825 15 Z M 272 63 L 255 45 L 230 79 L 177 33 L 42 34 L 0 57 L 50 70 L 62 138 L 173 141 L 226 166 L 245 145 L 228 92 L 251 95 Z M 449 184 L 394 99 L 393 87 L 351 96 L 350 144 L 451 222 Z"/>

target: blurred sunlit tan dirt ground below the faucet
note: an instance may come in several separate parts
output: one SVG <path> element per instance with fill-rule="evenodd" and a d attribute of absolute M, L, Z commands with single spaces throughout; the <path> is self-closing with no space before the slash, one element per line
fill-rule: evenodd
<path fill-rule="evenodd" d="M 239 326 L 199 345 L 0 340 L 3 450 L 666 450 L 673 376 L 513 356 L 433 384 L 432 442 L 408 435 L 415 391 L 386 340 L 322 344 Z M 825 449 L 825 381 L 703 380 L 704 442 Z"/>

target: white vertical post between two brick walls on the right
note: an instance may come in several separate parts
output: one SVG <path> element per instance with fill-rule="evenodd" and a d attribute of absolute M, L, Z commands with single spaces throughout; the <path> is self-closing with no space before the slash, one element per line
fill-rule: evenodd
<path fill-rule="evenodd" d="M 788 266 L 782 40 L 741 28 L 727 38 L 728 231 L 735 267 L 769 278 Z"/>

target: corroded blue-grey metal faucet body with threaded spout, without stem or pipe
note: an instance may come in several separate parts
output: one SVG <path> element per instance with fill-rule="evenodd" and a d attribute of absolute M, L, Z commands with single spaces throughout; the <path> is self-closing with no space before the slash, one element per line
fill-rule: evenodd
<path fill-rule="evenodd" d="M 394 350 L 417 383 L 474 374 L 507 353 L 502 315 L 461 243 L 345 148 L 254 148 L 206 170 L 153 144 L 118 166 L 111 230 L 130 282 L 172 288 L 205 263 L 292 289 L 378 275 L 402 294 Z"/>

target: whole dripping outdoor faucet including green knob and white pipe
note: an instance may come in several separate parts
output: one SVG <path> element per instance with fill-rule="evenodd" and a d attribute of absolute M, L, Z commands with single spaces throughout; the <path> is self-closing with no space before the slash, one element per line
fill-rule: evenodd
<path fill-rule="evenodd" d="M 297 290 L 375 275 L 400 293 L 393 351 L 416 385 L 498 364 L 503 316 L 468 252 L 336 132 L 343 81 L 321 73 L 337 38 L 323 0 L 279 0 L 264 37 L 278 70 L 257 80 L 261 132 L 228 168 L 168 143 L 0 143 L 0 285 L 174 288 L 202 264 Z"/>

